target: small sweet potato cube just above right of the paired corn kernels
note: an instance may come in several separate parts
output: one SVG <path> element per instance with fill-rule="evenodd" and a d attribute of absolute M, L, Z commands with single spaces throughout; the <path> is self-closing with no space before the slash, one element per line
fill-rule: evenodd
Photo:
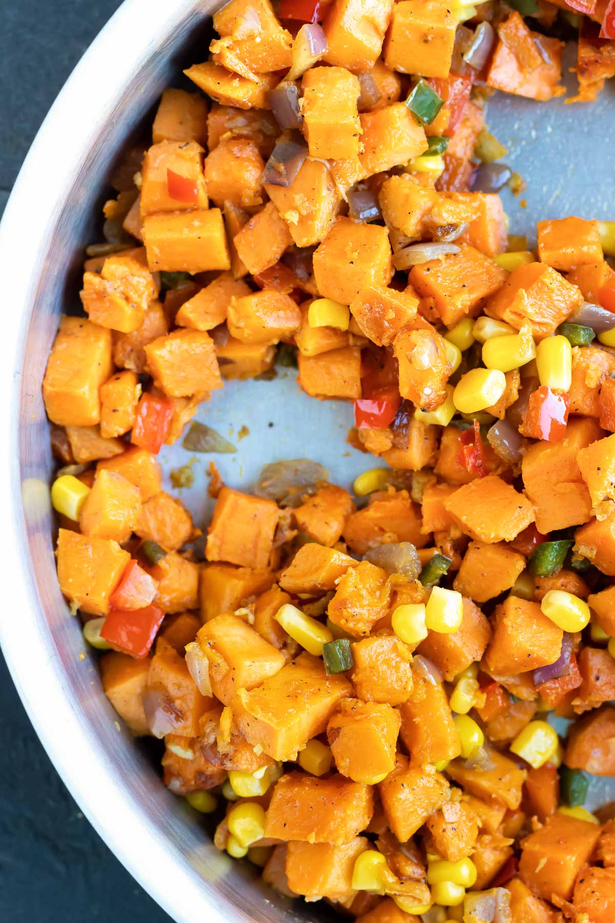
<path fill-rule="evenodd" d="M 504 544 L 470 542 L 453 586 L 477 603 L 486 603 L 510 590 L 525 567 L 526 558 Z"/>

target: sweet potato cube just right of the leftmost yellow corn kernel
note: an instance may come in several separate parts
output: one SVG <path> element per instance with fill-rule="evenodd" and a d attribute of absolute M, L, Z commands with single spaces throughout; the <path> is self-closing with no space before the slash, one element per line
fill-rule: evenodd
<path fill-rule="evenodd" d="M 140 508 L 139 488 L 122 474 L 103 469 L 81 508 L 81 532 L 98 538 L 112 538 L 119 545 L 124 545 L 136 526 Z"/>

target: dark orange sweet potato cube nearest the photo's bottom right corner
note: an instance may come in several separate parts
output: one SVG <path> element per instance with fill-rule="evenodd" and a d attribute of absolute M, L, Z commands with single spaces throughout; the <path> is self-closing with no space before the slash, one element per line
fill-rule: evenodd
<path fill-rule="evenodd" d="M 552 814 L 544 827 L 521 843 L 521 880 L 547 901 L 553 894 L 570 900 L 574 880 L 594 851 L 599 835 L 595 823 L 559 812 Z"/>

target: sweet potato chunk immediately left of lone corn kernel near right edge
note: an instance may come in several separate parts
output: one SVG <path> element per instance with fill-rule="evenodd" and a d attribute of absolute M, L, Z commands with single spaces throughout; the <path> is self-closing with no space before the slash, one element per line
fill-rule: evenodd
<path fill-rule="evenodd" d="M 562 637 L 562 629 L 543 615 L 538 603 L 508 596 L 495 610 L 485 664 L 501 676 L 554 664 L 562 651 Z"/>

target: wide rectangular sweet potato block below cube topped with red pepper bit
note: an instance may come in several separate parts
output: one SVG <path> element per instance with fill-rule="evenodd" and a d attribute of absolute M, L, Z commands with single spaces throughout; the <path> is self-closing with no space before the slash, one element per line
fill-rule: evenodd
<path fill-rule="evenodd" d="M 222 212 L 169 212 L 143 222 L 148 266 L 154 272 L 230 270 L 231 257 Z"/>

